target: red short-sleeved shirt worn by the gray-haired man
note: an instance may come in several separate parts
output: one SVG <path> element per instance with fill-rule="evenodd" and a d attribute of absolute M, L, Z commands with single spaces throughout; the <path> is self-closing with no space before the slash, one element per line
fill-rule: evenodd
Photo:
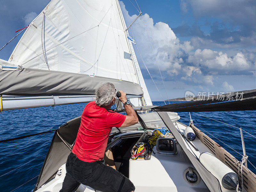
<path fill-rule="evenodd" d="M 86 162 L 102 160 L 112 127 L 120 127 L 124 120 L 124 115 L 108 112 L 95 101 L 88 103 L 81 116 L 72 153 Z"/>

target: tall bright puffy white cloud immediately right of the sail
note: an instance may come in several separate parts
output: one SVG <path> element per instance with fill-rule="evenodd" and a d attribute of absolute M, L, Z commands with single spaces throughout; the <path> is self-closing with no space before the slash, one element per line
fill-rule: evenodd
<path fill-rule="evenodd" d="M 130 16 L 122 1 L 120 1 L 120 6 L 127 25 L 132 23 L 137 15 Z M 147 13 L 143 15 L 143 18 L 153 44 L 160 69 L 180 69 L 179 64 L 183 63 L 182 57 L 186 56 L 188 52 L 193 49 L 190 42 L 180 42 L 179 38 L 176 37 L 168 24 L 163 22 L 157 22 L 154 24 L 153 19 L 150 18 Z M 142 17 L 139 17 L 132 24 L 132 32 L 147 67 L 153 69 L 156 68 L 156 59 L 148 39 L 148 33 Z M 132 34 L 130 33 L 130 35 Z M 174 73 L 178 74 L 175 70 Z"/>

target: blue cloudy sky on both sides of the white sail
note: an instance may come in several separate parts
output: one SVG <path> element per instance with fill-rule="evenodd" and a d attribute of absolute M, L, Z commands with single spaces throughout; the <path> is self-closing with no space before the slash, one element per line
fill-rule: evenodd
<path fill-rule="evenodd" d="M 131 2 L 136 5 L 135 0 Z M 138 15 L 120 1 L 126 25 Z M 255 0 L 137 1 L 143 13 L 169 98 L 186 91 L 229 92 L 255 89 Z M 49 0 L 0 0 L 0 47 L 28 25 Z M 167 99 L 142 17 L 134 38 L 164 99 Z M 129 30 L 131 34 L 131 29 Z M 0 51 L 8 60 L 21 36 Z M 153 101 L 161 100 L 137 55 Z"/>

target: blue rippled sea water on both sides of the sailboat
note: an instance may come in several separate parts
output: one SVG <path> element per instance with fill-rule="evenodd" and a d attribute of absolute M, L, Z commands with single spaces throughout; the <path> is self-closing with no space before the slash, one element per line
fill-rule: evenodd
<path fill-rule="evenodd" d="M 81 116 L 85 105 L 85 103 L 82 103 L 56 106 L 54 108 L 43 107 L 4 111 L 4 113 L 0 115 L 0 140 L 55 130 L 68 120 Z M 161 106 L 164 105 L 164 102 L 153 102 L 153 105 Z M 241 160 L 241 155 L 231 149 L 234 148 L 238 153 L 243 153 L 239 129 L 213 121 L 198 114 L 236 127 L 241 127 L 246 132 L 256 136 L 256 112 L 228 111 L 191 113 L 194 124 L 199 129 L 201 128 L 201 131 L 205 132 L 238 160 Z M 179 113 L 179 116 L 181 117 L 181 123 L 189 123 L 188 113 Z M 221 143 L 206 131 L 231 148 Z M 248 160 L 256 166 L 256 140 L 246 132 L 243 132 L 243 134 L 246 152 L 249 156 Z M 0 143 L 0 190 L 2 192 L 32 191 L 35 187 L 45 155 L 51 144 L 52 137 L 53 133 L 48 133 Z M 250 163 L 248 163 L 248 167 L 252 172 L 256 173 L 256 169 L 253 168 Z M 22 186 L 18 188 L 20 185 Z"/>

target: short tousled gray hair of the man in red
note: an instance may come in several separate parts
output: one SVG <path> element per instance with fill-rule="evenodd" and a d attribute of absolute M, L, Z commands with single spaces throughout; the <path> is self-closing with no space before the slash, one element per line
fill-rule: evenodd
<path fill-rule="evenodd" d="M 102 83 L 95 90 L 94 100 L 98 106 L 109 105 L 114 97 L 116 97 L 116 90 L 112 83 Z"/>

